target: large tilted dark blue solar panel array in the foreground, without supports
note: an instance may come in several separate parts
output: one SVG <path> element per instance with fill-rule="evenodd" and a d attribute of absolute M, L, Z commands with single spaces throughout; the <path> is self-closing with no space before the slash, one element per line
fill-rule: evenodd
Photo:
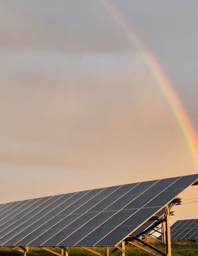
<path fill-rule="evenodd" d="M 0 205 L 0 246 L 115 246 L 198 175 Z"/>

